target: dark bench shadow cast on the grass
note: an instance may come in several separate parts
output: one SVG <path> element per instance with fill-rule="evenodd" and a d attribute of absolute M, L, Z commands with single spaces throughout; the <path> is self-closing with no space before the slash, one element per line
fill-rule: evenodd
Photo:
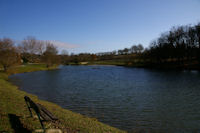
<path fill-rule="evenodd" d="M 30 130 L 23 127 L 23 124 L 19 120 L 19 116 L 15 114 L 8 114 L 11 127 L 14 129 L 14 133 L 31 133 Z"/>

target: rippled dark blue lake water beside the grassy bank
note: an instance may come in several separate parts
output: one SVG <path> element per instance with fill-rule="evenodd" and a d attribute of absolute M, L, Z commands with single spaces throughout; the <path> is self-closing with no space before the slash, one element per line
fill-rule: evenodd
<path fill-rule="evenodd" d="M 200 131 L 200 72 L 61 66 L 16 74 L 21 90 L 127 130 Z"/>

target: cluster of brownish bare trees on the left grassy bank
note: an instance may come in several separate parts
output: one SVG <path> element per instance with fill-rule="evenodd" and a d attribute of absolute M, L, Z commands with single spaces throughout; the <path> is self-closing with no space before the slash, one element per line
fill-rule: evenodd
<path fill-rule="evenodd" d="M 47 67 L 59 64 L 58 49 L 48 41 L 27 37 L 16 45 L 10 38 L 0 39 L 0 65 L 4 71 L 21 63 L 45 63 Z"/>

